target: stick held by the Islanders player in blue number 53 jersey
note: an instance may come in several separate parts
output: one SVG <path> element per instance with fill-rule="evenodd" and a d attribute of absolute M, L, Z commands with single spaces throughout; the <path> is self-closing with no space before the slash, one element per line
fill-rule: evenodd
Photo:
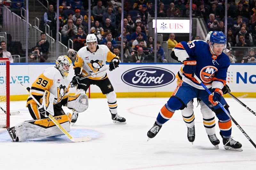
<path fill-rule="evenodd" d="M 206 90 L 206 92 L 208 92 L 208 94 L 210 95 L 211 92 L 209 91 L 209 89 L 207 89 L 207 87 L 202 83 L 202 81 L 196 76 L 194 75 L 194 78 L 196 78 L 196 80 L 204 87 L 204 89 Z M 222 110 L 228 115 L 228 117 L 236 124 L 236 126 L 238 127 L 239 130 L 241 130 L 241 132 L 244 134 L 244 136 L 252 143 L 252 145 L 256 148 L 256 145 L 254 144 L 254 142 L 252 141 L 252 139 L 245 133 L 245 131 L 242 129 L 242 127 L 235 121 L 235 119 L 228 113 L 228 111 L 222 106 L 222 104 L 218 102 L 218 105 L 222 108 Z"/>

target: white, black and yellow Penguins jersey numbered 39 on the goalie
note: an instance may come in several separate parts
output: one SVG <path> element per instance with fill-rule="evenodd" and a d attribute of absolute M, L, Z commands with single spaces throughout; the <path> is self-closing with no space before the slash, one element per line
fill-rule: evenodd
<path fill-rule="evenodd" d="M 61 100 L 68 98 L 70 79 L 62 77 L 60 71 L 55 67 L 49 67 L 36 79 L 32 84 L 30 93 L 42 103 L 42 97 L 45 90 L 51 92 L 55 97 L 53 104 L 59 103 Z M 29 96 L 28 104 L 36 104 L 36 102 Z"/>

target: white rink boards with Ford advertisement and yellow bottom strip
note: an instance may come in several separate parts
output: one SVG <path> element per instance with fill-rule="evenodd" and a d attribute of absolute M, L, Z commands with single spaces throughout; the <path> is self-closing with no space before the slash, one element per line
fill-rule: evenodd
<path fill-rule="evenodd" d="M 10 99 L 26 100 L 25 90 L 17 83 L 15 75 L 23 85 L 30 87 L 36 78 L 53 63 L 30 63 L 10 65 Z M 169 97 L 177 86 L 175 78 L 181 64 L 136 64 L 120 63 L 113 71 L 107 71 L 108 77 L 115 89 L 117 97 Z M 256 97 L 256 65 L 255 64 L 231 64 L 227 73 L 227 84 L 232 94 L 236 97 Z M 211 70 L 209 70 L 211 71 Z M 211 73 L 211 72 L 209 72 Z M 70 80 L 74 75 L 72 69 L 69 73 Z M 0 76 L 0 84 L 4 78 Z M 76 88 L 71 86 L 70 93 L 75 93 Z M 87 91 L 88 93 L 89 91 Z M 91 85 L 91 98 L 102 98 L 100 88 Z M 228 96 L 226 96 L 228 97 Z"/>

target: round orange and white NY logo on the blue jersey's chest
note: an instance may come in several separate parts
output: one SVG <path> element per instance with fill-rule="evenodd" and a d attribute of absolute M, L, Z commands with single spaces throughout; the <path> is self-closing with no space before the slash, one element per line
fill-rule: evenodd
<path fill-rule="evenodd" d="M 200 78 L 204 83 L 210 83 L 217 71 L 214 66 L 206 66 L 200 71 Z"/>

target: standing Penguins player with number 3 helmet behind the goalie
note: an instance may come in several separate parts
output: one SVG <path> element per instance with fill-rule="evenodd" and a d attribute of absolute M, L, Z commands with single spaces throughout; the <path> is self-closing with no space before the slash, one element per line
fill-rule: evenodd
<path fill-rule="evenodd" d="M 116 69 L 119 65 L 119 57 L 110 52 L 106 45 L 98 45 L 95 34 L 88 34 L 86 37 L 87 46 L 82 47 L 76 55 L 74 63 L 75 76 L 72 84 L 77 85 L 76 93 L 86 93 L 90 85 L 100 87 L 102 94 L 108 99 L 108 107 L 114 123 L 126 124 L 125 118 L 117 114 L 116 93 L 108 79 L 106 71 L 94 74 L 91 77 L 80 80 L 81 77 L 106 68 L 106 62 L 109 63 L 109 70 Z M 82 69 L 82 70 L 81 70 Z M 72 123 L 75 123 L 78 113 L 73 113 Z"/>

